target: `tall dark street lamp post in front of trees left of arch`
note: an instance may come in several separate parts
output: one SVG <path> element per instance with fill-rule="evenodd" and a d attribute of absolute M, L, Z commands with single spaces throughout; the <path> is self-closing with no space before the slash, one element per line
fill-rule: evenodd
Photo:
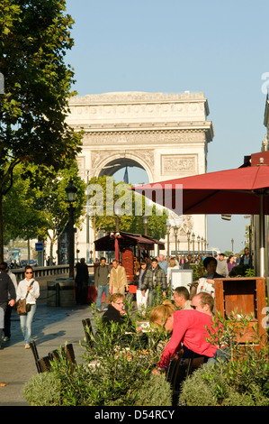
<path fill-rule="evenodd" d="M 66 188 L 67 202 L 69 204 L 69 231 L 68 231 L 68 263 L 69 263 L 69 277 L 74 278 L 74 259 L 75 259 L 75 237 L 74 237 L 74 207 L 73 203 L 76 200 L 76 186 L 70 179 Z"/>

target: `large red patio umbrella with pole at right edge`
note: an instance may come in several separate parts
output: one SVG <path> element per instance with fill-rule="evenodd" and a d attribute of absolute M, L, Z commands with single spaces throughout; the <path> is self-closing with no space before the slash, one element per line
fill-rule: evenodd
<path fill-rule="evenodd" d="M 133 188 L 176 214 L 258 215 L 260 272 L 265 275 L 265 215 L 269 215 L 269 152 L 252 154 L 240 168 Z"/>

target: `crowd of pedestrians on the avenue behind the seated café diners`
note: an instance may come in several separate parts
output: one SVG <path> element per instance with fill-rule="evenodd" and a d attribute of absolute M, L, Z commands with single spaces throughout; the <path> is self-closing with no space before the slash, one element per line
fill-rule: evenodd
<path fill-rule="evenodd" d="M 135 257 L 134 278 L 130 284 L 136 286 L 135 298 L 138 309 L 152 307 L 157 299 L 157 290 L 161 290 L 163 296 L 166 297 L 167 290 L 171 287 L 173 270 L 190 270 L 193 269 L 193 265 L 201 262 L 206 270 L 204 277 L 207 277 L 207 282 L 210 281 L 210 284 L 213 284 L 214 278 L 228 278 L 231 276 L 230 272 L 233 268 L 239 265 L 253 268 L 253 258 L 248 247 L 241 256 L 231 254 L 227 257 L 224 253 L 220 253 L 214 257 L 208 255 L 202 257 L 202 255 L 193 256 L 189 253 L 181 257 L 170 257 L 169 261 L 166 260 L 164 254 L 159 254 L 157 258 L 149 258 L 145 255 L 141 261 Z M 94 285 L 97 290 L 96 309 L 102 310 L 104 293 L 103 310 L 107 310 L 107 300 L 110 294 L 126 294 L 129 290 L 124 266 L 115 259 L 110 266 L 102 257 L 94 273 Z"/>

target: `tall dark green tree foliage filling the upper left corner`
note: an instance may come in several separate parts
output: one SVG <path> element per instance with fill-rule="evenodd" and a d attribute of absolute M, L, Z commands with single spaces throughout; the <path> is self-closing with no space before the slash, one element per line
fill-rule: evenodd
<path fill-rule="evenodd" d="M 0 4 L 0 255 L 2 197 L 18 163 L 39 172 L 61 169 L 80 151 L 81 134 L 66 123 L 74 72 L 64 62 L 74 21 L 65 0 L 3 0 Z M 29 169 L 28 169 L 29 172 Z"/>

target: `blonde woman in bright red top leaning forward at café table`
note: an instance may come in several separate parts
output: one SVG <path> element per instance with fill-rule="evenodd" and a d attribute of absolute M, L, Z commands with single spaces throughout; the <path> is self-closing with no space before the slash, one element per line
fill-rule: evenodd
<path fill-rule="evenodd" d="M 212 329 L 211 316 L 192 309 L 175 310 L 172 303 L 166 300 L 162 305 L 152 309 L 151 323 L 165 327 L 172 336 L 167 343 L 161 356 L 157 369 L 166 371 L 170 359 L 182 349 L 182 345 L 192 350 L 195 354 L 213 358 L 218 351 L 217 346 L 211 345 L 206 340 L 209 333 L 206 329 Z"/>

